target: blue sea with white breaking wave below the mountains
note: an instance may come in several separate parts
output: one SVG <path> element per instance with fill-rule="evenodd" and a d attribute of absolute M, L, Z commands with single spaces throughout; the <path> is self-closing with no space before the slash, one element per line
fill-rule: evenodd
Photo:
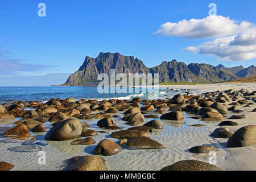
<path fill-rule="evenodd" d="M 133 88 L 133 93 L 98 93 L 97 86 L 0 86 L 0 104 L 13 101 L 48 101 L 51 98 L 65 99 L 73 97 L 75 100 L 84 99 L 133 99 L 135 97 L 148 98 L 148 92 Z M 159 89 L 159 98 L 163 98 L 166 89 Z"/>

